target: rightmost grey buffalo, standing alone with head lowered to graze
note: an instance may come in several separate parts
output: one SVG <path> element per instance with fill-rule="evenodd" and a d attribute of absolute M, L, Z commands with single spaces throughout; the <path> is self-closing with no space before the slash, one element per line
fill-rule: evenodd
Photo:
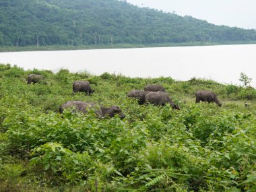
<path fill-rule="evenodd" d="M 218 100 L 216 94 L 210 91 L 197 91 L 195 92 L 195 102 L 215 102 L 218 106 L 222 106 L 222 103 Z"/>

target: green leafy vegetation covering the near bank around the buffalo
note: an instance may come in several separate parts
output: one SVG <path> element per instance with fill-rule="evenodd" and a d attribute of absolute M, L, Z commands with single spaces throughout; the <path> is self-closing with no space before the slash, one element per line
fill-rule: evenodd
<path fill-rule="evenodd" d="M 26 84 L 30 73 L 44 75 Z M 92 96 L 72 95 L 87 79 Z M 133 89 L 161 84 L 179 103 L 139 106 Z M 195 104 L 196 90 L 223 103 Z M 96 119 L 67 100 L 118 105 L 125 119 Z M 244 102 L 249 104 L 244 106 Z M 0 65 L 0 191 L 255 191 L 256 90 L 193 78 L 129 78 Z"/>

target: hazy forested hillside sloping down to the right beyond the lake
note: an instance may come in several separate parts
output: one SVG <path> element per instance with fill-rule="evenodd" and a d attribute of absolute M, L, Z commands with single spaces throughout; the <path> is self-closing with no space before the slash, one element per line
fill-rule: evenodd
<path fill-rule="evenodd" d="M 0 0 L 0 45 L 255 41 L 255 30 L 216 26 L 117 0 Z"/>

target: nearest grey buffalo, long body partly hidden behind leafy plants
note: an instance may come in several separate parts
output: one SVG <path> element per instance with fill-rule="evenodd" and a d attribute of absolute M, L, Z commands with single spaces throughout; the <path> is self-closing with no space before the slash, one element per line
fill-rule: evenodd
<path fill-rule="evenodd" d="M 63 113 L 63 110 L 65 108 L 69 108 L 72 106 L 75 107 L 75 110 L 79 110 L 82 113 L 88 113 L 88 110 L 92 108 L 95 110 L 96 116 L 98 117 L 114 117 L 116 114 L 118 114 L 121 119 L 125 118 L 125 115 L 123 115 L 119 106 L 103 107 L 99 106 L 94 102 L 83 102 L 79 100 L 65 102 L 60 106 L 59 112 Z"/>

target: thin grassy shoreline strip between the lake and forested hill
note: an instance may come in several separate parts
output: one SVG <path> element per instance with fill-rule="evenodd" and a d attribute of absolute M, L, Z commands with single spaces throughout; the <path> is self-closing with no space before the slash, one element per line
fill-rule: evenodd
<path fill-rule="evenodd" d="M 171 47 L 171 46 L 214 46 L 229 44 L 256 44 L 256 42 L 182 42 L 166 44 L 91 44 L 91 45 L 44 45 L 44 46 L 0 46 L 0 53 L 18 51 L 65 51 L 65 50 L 87 50 L 87 49 L 131 49 L 150 47 Z"/>

